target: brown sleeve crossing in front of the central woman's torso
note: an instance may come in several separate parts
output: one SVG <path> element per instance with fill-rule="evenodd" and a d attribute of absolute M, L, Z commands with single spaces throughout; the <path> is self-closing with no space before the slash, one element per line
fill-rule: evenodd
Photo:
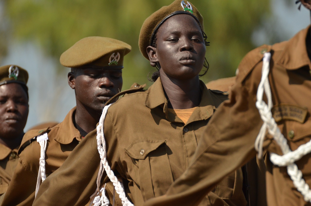
<path fill-rule="evenodd" d="M 190 167 L 164 196 L 145 206 L 197 205 L 225 176 L 251 160 L 262 126 L 253 92 L 236 83 L 230 99 L 211 118 Z"/>

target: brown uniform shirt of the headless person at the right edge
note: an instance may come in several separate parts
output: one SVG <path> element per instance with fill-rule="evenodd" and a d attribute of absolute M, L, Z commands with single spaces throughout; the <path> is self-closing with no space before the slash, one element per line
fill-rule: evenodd
<path fill-rule="evenodd" d="M 211 118 L 191 166 L 174 182 L 165 196 L 150 200 L 146 206 L 196 205 L 223 177 L 255 157 L 254 142 L 262 126 L 255 101 L 262 76 L 262 57 L 266 51 L 272 54 L 269 81 L 273 104 L 284 109 L 282 118 L 275 116 L 278 117 L 278 127 L 287 138 L 291 150 L 309 142 L 311 63 L 306 48 L 309 29 L 301 30 L 289 41 L 272 46 L 263 45 L 244 57 L 229 100 L 220 105 Z M 285 112 L 286 108 L 288 113 Z M 298 109 L 299 114 L 306 110 L 305 118 L 299 116 L 294 108 L 302 108 Z M 296 115 L 298 119 L 294 118 Z M 268 152 L 265 157 L 268 205 L 311 205 L 296 190 L 286 167 L 274 166 L 270 162 L 270 152 L 282 154 L 270 135 L 266 136 L 264 149 Z M 295 162 L 308 185 L 311 185 L 310 157 L 311 154 L 307 154 Z"/>

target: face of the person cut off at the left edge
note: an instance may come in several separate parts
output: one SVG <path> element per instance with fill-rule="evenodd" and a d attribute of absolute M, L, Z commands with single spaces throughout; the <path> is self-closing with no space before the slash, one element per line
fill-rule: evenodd
<path fill-rule="evenodd" d="M 23 133 L 29 112 L 26 91 L 18 83 L 0 86 L 0 137 L 14 138 Z"/>

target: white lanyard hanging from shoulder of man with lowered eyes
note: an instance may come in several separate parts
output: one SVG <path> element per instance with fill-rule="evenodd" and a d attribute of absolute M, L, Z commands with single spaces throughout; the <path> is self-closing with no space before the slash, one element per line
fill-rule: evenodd
<path fill-rule="evenodd" d="M 45 180 L 45 150 L 48 143 L 48 133 L 43 133 L 37 137 L 37 142 L 40 144 L 40 159 L 39 159 L 39 171 L 38 171 L 38 177 L 37 177 L 37 185 L 36 185 L 36 191 L 35 191 L 35 197 L 37 196 L 39 187 L 40 187 L 40 181 L 42 182 Z"/>

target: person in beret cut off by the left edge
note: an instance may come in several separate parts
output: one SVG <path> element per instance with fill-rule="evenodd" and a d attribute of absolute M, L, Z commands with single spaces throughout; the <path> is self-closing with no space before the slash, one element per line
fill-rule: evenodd
<path fill-rule="evenodd" d="M 19 160 L 17 150 L 29 111 L 27 81 L 25 69 L 0 67 L 0 196 L 7 191 Z"/>

